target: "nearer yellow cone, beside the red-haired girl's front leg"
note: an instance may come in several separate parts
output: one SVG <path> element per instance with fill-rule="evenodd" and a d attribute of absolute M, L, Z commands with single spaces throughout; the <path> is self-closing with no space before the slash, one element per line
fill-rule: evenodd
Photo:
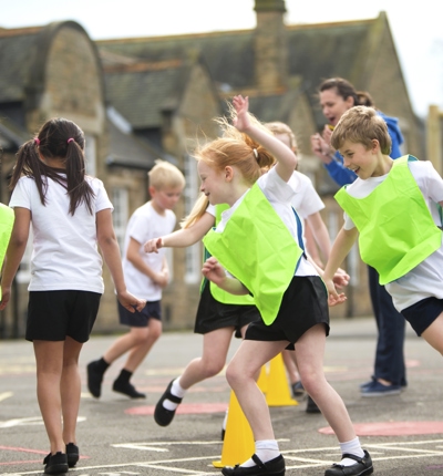
<path fill-rule="evenodd" d="M 223 442 L 222 461 L 213 462 L 213 466 L 235 466 L 246 462 L 255 452 L 253 431 L 241 411 L 235 393 L 230 391 L 228 421 Z"/>

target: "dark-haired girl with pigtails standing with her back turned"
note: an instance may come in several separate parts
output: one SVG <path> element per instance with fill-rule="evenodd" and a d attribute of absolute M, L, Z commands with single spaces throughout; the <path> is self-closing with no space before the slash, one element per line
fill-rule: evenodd
<path fill-rule="evenodd" d="M 85 175 L 84 134 L 64 118 L 48 121 L 19 152 L 10 187 L 16 221 L 1 280 L 3 310 L 32 226 L 33 252 L 25 339 L 37 362 L 37 396 L 50 442 L 45 474 L 79 461 L 79 355 L 103 293 L 102 258 L 128 312 L 143 300 L 126 291 L 112 204 L 101 180 Z"/>

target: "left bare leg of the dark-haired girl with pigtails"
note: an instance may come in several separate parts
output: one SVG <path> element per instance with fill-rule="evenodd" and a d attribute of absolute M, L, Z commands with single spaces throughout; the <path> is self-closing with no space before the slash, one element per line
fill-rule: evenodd
<path fill-rule="evenodd" d="M 51 453 L 65 453 L 60 393 L 64 341 L 35 340 L 33 346 L 37 362 L 37 399 L 50 441 Z"/>

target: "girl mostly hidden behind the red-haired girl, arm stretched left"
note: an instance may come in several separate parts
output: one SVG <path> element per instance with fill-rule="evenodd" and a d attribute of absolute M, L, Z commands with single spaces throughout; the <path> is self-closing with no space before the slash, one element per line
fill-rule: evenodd
<path fill-rule="evenodd" d="M 267 133 L 270 134 L 269 131 Z M 240 155 L 247 155 L 251 148 L 259 147 L 259 144 L 249 137 L 246 138 L 245 144 L 241 134 L 235 127 L 225 131 L 225 138 L 236 144 Z M 257 158 L 256 167 L 251 170 L 251 180 L 255 182 L 272 165 L 274 157 L 262 151 L 260 157 Z M 207 197 L 202 195 L 182 224 L 183 228 L 173 234 L 151 239 L 145 244 L 145 251 L 157 252 L 163 247 L 194 245 L 214 227 L 217 223 L 218 211 L 225 208 L 225 205 L 217 205 L 217 207 L 209 205 Z M 233 296 L 204 280 L 194 327 L 194 332 L 203 334 L 203 354 L 187 364 L 182 375 L 168 384 L 158 400 L 154 412 L 154 420 L 158 425 L 171 424 L 190 386 L 217 375 L 223 370 L 234 333 L 236 337 L 243 337 L 247 325 L 259 319 L 260 314 L 250 296 Z M 223 435 L 224 428 L 222 437 Z"/>

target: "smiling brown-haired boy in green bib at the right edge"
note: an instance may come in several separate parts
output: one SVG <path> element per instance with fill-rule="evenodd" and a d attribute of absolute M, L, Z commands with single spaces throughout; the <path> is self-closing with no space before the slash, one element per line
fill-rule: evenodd
<path fill-rule="evenodd" d="M 370 107 L 344 113 L 331 141 L 358 178 L 336 195 L 344 225 L 324 269 L 330 304 L 346 300 L 330 277 L 359 238 L 361 259 L 377 269 L 396 310 L 443 353 L 442 177 L 431 162 L 392 159 L 387 125 Z"/>

